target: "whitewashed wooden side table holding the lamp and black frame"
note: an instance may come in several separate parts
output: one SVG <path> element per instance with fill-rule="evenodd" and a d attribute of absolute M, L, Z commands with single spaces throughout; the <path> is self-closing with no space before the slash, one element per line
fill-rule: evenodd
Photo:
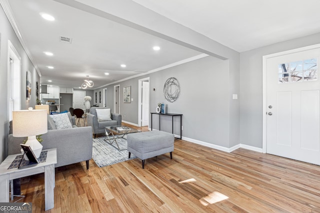
<path fill-rule="evenodd" d="M 9 203 L 9 181 L 30 175 L 44 173 L 44 199 L 45 211 L 54 207 L 54 164 L 56 164 L 56 148 L 47 151 L 46 161 L 32 166 L 20 167 L 19 169 L 7 169 L 15 157 L 21 154 L 9 155 L 0 164 L 0 202 Z"/>

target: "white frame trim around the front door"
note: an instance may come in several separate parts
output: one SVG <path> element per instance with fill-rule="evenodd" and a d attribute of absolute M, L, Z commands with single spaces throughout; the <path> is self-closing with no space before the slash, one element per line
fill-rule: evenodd
<path fill-rule="evenodd" d="M 262 153 L 266 153 L 266 116 L 267 116 L 267 103 L 266 103 L 266 94 L 267 94 L 267 88 L 266 88 L 266 72 L 267 72 L 267 59 L 273 58 L 277 56 L 302 52 L 306 50 L 316 49 L 320 48 L 320 44 L 314 44 L 310 46 L 300 47 L 296 49 L 291 49 L 283 52 L 277 52 L 269 55 L 263 55 L 262 56 Z"/>

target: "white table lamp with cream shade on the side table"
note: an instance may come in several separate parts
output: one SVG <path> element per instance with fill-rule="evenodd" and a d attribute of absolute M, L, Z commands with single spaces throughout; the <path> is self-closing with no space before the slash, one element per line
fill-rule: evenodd
<path fill-rule="evenodd" d="M 36 136 L 47 131 L 46 110 L 32 110 L 29 107 L 28 110 L 12 111 L 13 137 L 28 137 L 25 145 L 30 146 L 36 158 L 40 157 L 42 151 L 42 145 L 36 140 Z"/>

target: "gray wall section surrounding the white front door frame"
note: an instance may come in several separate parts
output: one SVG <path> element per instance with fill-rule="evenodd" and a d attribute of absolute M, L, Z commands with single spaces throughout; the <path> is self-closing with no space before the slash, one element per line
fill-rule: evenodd
<path fill-rule="evenodd" d="M 240 53 L 240 143 L 262 148 L 262 56 L 320 43 L 320 33 Z"/>

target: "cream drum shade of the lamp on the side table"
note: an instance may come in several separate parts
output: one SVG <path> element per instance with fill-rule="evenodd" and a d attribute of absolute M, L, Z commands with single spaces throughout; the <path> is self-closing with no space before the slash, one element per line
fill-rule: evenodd
<path fill-rule="evenodd" d="M 13 137 L 29 137 L 47 133 L 46 110 L 12 111 Z"/>

